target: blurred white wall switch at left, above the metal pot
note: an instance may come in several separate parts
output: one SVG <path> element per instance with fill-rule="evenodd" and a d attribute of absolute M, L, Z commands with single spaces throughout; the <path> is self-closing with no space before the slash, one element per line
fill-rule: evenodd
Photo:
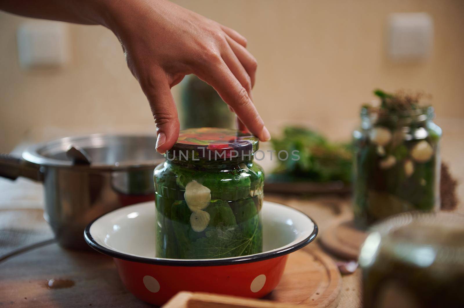
<path fill-rule="evenodd" d="M 68 26 L 61 22 L 31 21 L 17 32 L 22 68 L 60 67 L 69 58 Z"/>

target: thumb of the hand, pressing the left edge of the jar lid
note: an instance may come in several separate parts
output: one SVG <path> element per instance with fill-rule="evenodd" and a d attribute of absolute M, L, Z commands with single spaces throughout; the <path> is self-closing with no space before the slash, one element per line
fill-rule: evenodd
<path fill-rule="evenodd" d="M 142 84 L 142 83 L 141 83 Z M 179 137 L 179 119 L 167 77 L 153 77 L 142 84 L 156 124 L 156 151 L 164 154 Z"/>

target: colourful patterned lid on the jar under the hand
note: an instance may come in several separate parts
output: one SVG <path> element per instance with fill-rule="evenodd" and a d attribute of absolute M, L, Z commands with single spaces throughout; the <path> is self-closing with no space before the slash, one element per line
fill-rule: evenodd
<path fill-rule="evenodd" d="M 170 160 L 240 160 L 259 148 L 258 137 L 236 129 L 202 127 L 182 129 L 166 157 Z M 245 157 L 246 158 L 246 157 Z"/>

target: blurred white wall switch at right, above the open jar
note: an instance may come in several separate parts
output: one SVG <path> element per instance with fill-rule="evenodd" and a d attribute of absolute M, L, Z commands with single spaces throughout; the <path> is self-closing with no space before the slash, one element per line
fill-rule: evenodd
<path fill-rule="evenodd" d="M 393 13 L 388 18 L 388 56 L 423 60 L 432 52 L 433 20 L 427 13 Z"/>

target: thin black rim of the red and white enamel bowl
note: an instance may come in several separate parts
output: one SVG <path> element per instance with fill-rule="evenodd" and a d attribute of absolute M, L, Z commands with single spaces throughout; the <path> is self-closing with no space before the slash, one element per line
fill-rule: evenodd
<path fill-rule="evenodd" d="M 280 204 L 280 203 L 277 203 L 277 204 Z M 284 204 L 281 204 L 281 205 L 284 205 Z M 284 205 L 284 206 L 287 206 L 287 205 Z M 120 253 L 115 250 L 108 249 L 98 244 L 97 241 L 94 240 L 94 238 L 90 234 L 90 227 L 92 226 L 92 224 L 96 222 L 99 218 L 105 216 L 106 214 L 103 214 L 102 216 L 97 217 L 92 222 L 90 222 L 87 225 L 87 227 L 85 227 L 84 239 L 87 242 L 87 244 L 89 244 L 90 247 L 97 250 L 99 253 L 103 253 L 107 256 L 110 256 L 116 259 L 122 259 L 122 260 L 132 261 L 132 262 L 140 262 L 140 263 L 147 263 L 147 264 L 154 264 L 154 265 L 170 265 L 170 266 L 220 266 L 220 265 L 251 263 L 251 262 L 263 261 L 267 259 L 273 259 L 273 258 L 284 256 L 289 253 L 293 253 L 294 251 L 301 249 L 304 246 L 308 245 L 310 242 L 312 242 L 316 238 L 316 235 L 318 232 L 316 222 L 311 217 L 304 214 L 302 211 L 294 209 L 292 207 L 289 207 L 289 208 L 298 211 L 299 213 L 308 217 L 311 220 L 311 222 L 314 223 L 314 230 L 311 234 L 309 234 L 307 238 L 291 246 L 284 247 L 281 249 L 243 256 L 243 257 L 233 257 L 231 259 L 207 259 L 207 260 L 206 259 L 186 259 L 186 260 L 182 260 L 182 259 L 144 258 L 144 257 L 133 256 L 130 254 Z"/>

